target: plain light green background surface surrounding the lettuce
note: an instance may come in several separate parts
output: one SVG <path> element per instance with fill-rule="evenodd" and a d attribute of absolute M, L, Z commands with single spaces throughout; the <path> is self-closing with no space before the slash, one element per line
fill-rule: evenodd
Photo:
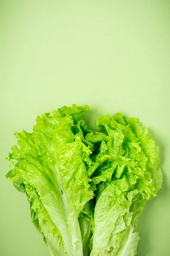
<path fill-rule="evenodd" d="M 0 255 L 49 256 L 26 196 L 4 177 L 14 131 L 62 105 L 136 116 L 160 145 L 163 189 L 138 256 L 170 255 L 170 1 L 0 0 Z"/>

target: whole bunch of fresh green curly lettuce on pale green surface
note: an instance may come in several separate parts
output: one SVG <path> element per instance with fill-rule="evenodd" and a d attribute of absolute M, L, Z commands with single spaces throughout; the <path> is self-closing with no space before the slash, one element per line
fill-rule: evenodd
<path fill-rule="evenodd" d="M 89 110 L 64 106 L 38 116 L 32 134 L 16 132 L 6 177 L 26 192 L 51 256 L 134 256 L 139 215 L 162 184 L 159 148 L 121 113 L 89 129 Z"/>

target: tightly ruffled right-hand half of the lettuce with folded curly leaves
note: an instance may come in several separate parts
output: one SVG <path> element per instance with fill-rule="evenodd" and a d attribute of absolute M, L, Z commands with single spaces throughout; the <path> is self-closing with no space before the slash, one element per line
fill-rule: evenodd
<path fill-rule="evenodd" d="M 134 256 L 139 242 L 135 231 L 138 217 L 162 183 L 159 148 L 137 119 L 126 119 L 121 113 L 101 116 L 96 125 L 98 131 L 85 137 L 98 143 L 91 157 L 94 164 L 88 170 L 91 183 L 96 184 L 90 255 Z"/>

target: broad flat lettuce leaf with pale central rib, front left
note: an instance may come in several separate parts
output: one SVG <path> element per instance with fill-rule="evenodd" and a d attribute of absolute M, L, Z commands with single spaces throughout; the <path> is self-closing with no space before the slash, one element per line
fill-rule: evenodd
<path fill-rule="evenodd" d="M 37 117 L 32 134 L 15 133 L 20 148 L 12 147 L 9 160 L 17 163 L 11 163 L 13 175 L 7 177 L 15 184 L 23 183 L 36 189 L 68 255 L 81 256 L 78 216 L 86 202 L 93 198 L 85 168 L 85 158 L 91 150 L 75 137 L 71 131 L 73 125 L 72 116 L 62 117 L 53 111 L 53 116 L 44 113 Z"/>

